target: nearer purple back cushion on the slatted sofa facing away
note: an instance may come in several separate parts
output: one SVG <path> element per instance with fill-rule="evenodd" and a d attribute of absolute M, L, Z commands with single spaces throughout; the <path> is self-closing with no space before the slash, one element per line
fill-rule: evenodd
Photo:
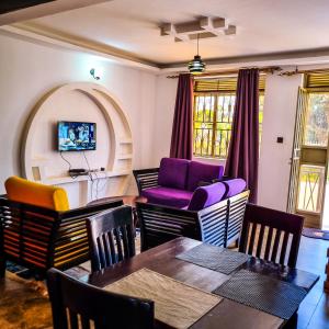
<path fill-rule="evenodd" d="M 208 207 L 219 202 L 225 193 L 226 188 L 222 182 L 197 188 L 193 193 L 188 211 L 198 212 Z"/>

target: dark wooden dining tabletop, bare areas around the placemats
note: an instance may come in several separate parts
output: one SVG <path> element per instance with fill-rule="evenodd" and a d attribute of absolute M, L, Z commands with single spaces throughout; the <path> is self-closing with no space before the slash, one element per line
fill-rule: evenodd
<path fill-rule="evenodd" d="M 87 280 L 92 285 L 105 287 L 138 270 L 146 268 L 190 286 L 192 285 L 204 292 L 212 293 L 224 282 L 229 280 L 232 273 L 230 275 L 226 275 L 177 258 L 178 254 L 201 243 L 201 241 L 189 238 L 177 238 L 137 254 L 129 260 L 117 263 L 112 268 L 94 272 L 90 274 Z M 307 292 L 309 292 L 318 281 L 318 276 L 315 274 L 265 262 L 253 257 L 250 257 L 249 260 L 241 266 L 253 272 L 290 282 L 305 288 Z M 223 298 L 219 304 L 194 322 L 191 328 L 265 329 L 282 328 L 285 324 L 286 320 L 282 318 L 231 299 Z M 156 320 L 156 328 L 170 327 Z"/>

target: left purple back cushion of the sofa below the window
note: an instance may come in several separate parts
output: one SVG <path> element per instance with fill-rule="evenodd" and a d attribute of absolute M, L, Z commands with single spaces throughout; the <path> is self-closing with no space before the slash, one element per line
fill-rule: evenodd
<path fill-rule="evenodd" d="M 189 160 L 162 158 L 158 177 L 159 185 L 185 190 L 189 164 Z"/>

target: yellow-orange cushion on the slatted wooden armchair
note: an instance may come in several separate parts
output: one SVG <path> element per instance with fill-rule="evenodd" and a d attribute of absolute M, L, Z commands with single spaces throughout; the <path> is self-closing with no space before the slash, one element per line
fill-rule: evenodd
<path fill-rule="evenodd" d="M 69 202 L 64 189 L 31 182 L 19 177 L 9 178 L 4 185 L 9 200 L 57 212 L 69 211 Z"/>

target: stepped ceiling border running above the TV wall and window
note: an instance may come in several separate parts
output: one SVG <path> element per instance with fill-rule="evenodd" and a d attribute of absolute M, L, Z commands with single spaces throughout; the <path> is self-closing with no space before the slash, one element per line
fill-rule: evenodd
<path fill-rule="evenodd" d="M 71 50 L 83 52 L 103 58 L 111 59 L 117 64 L 152 71 L 155 73 L 186 72 L 186 63 L 157 64 L 138 58 L 124 50 L 94 43 L 90 39 L 63 34 L 56 30 L 45 29 L 33 23 L 16 23 L 0 26 L 0 31 L 10 35 L 19 35 L 25 41 L 56 45 Z M 305 49 L 298 52 L 260 54 L 238 57 L 225 57 L 204 59 L 207 70 L 230 69 L 251 66 L 300 66 L 300 65 L 326 65 L 329 64 L 329 47 L 318 49 Z"/>

